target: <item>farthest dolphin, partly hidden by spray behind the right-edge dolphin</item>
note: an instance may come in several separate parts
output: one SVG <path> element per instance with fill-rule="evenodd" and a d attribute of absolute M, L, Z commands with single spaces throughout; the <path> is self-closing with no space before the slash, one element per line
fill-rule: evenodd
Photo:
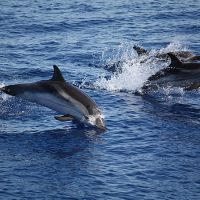
<path fill-rule="evenodd" d="M 138 56 L 150 56 L 150 51 L 148 51 L 138 45 L 134 45 L 133 49 L 137 52 Z M 168 52 L 168 53 L 174 54 L 175 56 L 179 57 L 184 62 L 191 62 L 191 61 L 196 62 L 196 61 L 200 60 L 200 56 L 195 55 L 190 51 L 174 51 L 174 52 Z M 156 58 L 167 61 L 170 59 L 168 53 L 157 52 L 154 56 Z"/>

